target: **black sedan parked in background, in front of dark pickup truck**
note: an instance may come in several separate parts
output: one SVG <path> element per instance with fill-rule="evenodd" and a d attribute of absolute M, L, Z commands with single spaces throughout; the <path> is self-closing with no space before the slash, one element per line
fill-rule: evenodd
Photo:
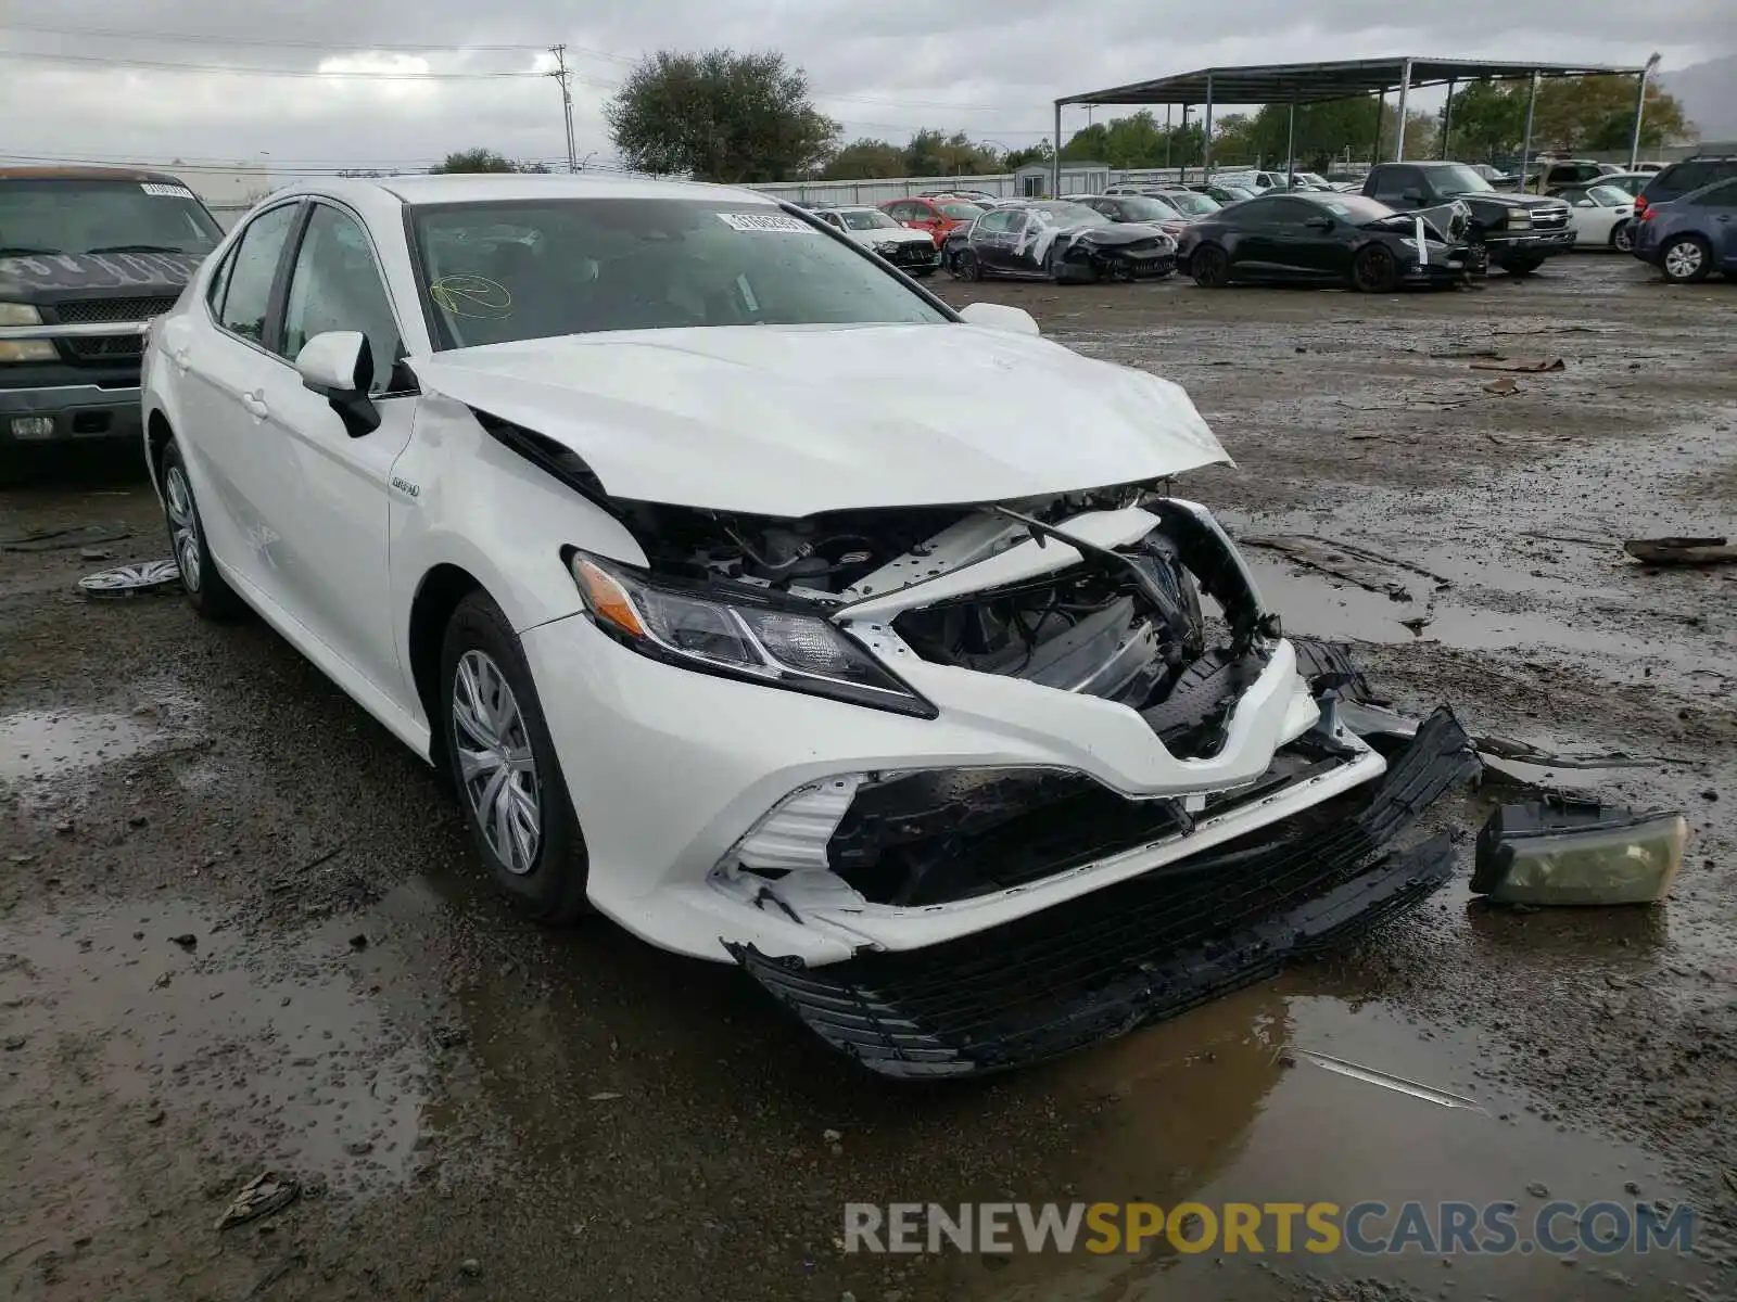
<path fill-rule="evenodd" d="M 1178 264 L 1205 288 L 1301 281 L 1386 293 L 1459 283 L 1466 252 L 1424 217 L 1360 194 L 1263 194 L 1190 226 Z"/>

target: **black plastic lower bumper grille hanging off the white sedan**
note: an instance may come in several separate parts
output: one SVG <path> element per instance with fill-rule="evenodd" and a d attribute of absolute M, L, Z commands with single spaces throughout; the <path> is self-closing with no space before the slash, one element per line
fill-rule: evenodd
<path fill-rule="evenodd" d="M 752 946 L 731 953 L 809 1029 L 879 1075 L 1025 1066 L 1259 981 L 1410 908 L 1449 878 L 1452 845 L 1442 835 L 1384 847 L 1476 771 L 1470 738 L 1443 708 L 1337 823 L 1273 825 L 922 950 L 825 967 Z"/>

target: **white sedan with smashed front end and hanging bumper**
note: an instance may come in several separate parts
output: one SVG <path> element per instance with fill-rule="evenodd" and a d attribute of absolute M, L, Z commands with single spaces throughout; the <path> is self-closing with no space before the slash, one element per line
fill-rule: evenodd
<path fill-rule="evenodd" d="M 281 191 L 144 415 L 193 606 L 446 769 L 514 901 L 736 962 L 875 1071 L 1119 1035 L 1450 870 L 1397 845 L 1464 733 L 1339 720 L 1166 493 L 1228 462 L 1181 389 L 766 196 Z"/>

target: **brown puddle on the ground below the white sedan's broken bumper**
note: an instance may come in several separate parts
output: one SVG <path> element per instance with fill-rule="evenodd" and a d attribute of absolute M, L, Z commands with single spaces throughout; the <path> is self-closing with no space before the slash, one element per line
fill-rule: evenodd
<path fill-rule="evenodd" d="M 1292 984 L 1292 983 L 1285 983 Z M 1299 1050 L 1313 1050 L 1436 1090 L 1475 1099 L 1482 1111 L 1443 1108 L 1365 1080 L 1324 1069 Z M 1289 1066 L 1287 1066 L 1289 1062 Z M 1324 995 L 1285 995 L 1258 988 L 1141 1031 L 1091 1055 L 1063 1062 L 1047 1082 L 1061 1108 L 1100 1106 L 1096 1125 L 1072 1158 L 1044 1174 L 1040 1187 L 1013 1191 L 1037 1201 L 1150 1201 L 1166 1212 L 1181 1201 L 1317 1203 L 1350 1208 L 1416 1200 L 1485 1205 L 1511 1201 L 1516 1226 L 1530 1231 L 1551 1200 L 1685 1200 L 1640 1147 L 1565 1134 L 1551 1120 L 1490 1083 L 1490 1050 L 1445 1028 L 1424 1028 L 1384 1005 L 1355 1005 Z M 1546 1109 L 1548 1115 L 1548 1109 Z M 1628 1182 L 1640 1194 L 1626 1189 Z M 1530 1191 L 1529 1191 L 1530 1189 Z M 1539 1189 L 1548 1193 L 1539 1194 Z M 983 1194 L 994 1198 L 994 1194 Z M 1391 1229 L 1374 1219 L 1367 1229 Z M 1556 1222 L 1565 1227 L 1569 1222 Z M 1298 1222 L 1301 1243 L 1306 1234 Z M 1197 1231 L 1199 1233 L 1199 1231 Z M 1702 1229 L 1702 1241 L 1706 1240 Z M 952 1292 L 1006 1302 L 1061 1299 L 1249 1299 L 1292 1297 L 1277 1276 L 1320 1279 L 1379 1278 L 1421 1295 L 1525 1297 L 1586 1295 L 1586 1276 L 1612 1288 L 1619 1271 L 1647 1297 L 1676 1297 L 1709 1278 L 1676 1250 L 1633 1250 L 1608 1257 L 1574 1253 L 1569 1269 L 1546 1252 L 1504 1255 L 1410 1250 L 1362 1257 L 1341 1248 L 1318 1255 L 1277 1253 L 1271 1222 L 1265 1255 L 1214 1250 L 1181 1255 L 1160 1245 L 1138 1255 L 1016 1252 L 1011 1259 L 954 1255 L 945 1271 Z M 1311 1293 L 1313 1295 L 1313 1293 Z M 1383 1293 L 1386 1295 L 1386 1293 Z M 1395 1293 L 1397 1295 L 1397 1293 Z"/>

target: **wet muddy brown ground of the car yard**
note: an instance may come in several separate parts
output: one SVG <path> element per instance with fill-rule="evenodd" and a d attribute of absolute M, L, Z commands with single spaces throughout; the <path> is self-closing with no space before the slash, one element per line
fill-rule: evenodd
<path fill-rule="evenodd" d="M 1671 901 L 1485 911 L 1466 847 L 1461 884 L 1357 955 L 1044 1069 L 895 1088 L 730 969 L 514 918 L 431 774 L 257 621 L 89 602 L 97 552 L 0 550 L 0 1297 L 1737 1293 L 1737 568 L 1617 547 L 1737 533 L 1737 285 L 1593 255 L 1383 299 L 940 288 L 1185 384 L 1238 465 L 1178 491 L 1247 542 L 1405 562 L 1393 601 L 1251 552 L 1287 625 L 1365 642 L 1400 703 L 1643 757 L 1577 776 L 1687 811 Z M 1483 352 L 1565 370 L 1496 396 Z M 115 559 L 167 554 L 158 519 L 89 457 L 0 493 L 0 538 L 101 523 L 130 533 L 99 545 Z M 1443 818 L 1473 828 L 1504 790 Z M 302 1198 L 214 1229 L 266 1168 Z M 846 1200 L 1525 1210 L 1544 1191 L 1688 1203 L 1695 1252 L 837 1245 Z"/>

